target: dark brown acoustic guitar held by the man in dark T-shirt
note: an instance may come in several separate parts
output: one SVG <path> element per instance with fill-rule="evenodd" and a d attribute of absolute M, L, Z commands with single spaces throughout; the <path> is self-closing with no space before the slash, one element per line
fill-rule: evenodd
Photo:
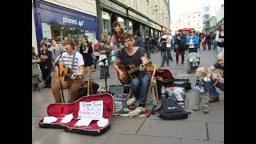
<path fill-rule="evenodd" d="M 145 67 L 150 65 L 152 65 L 151 61 L 147 62 L 145 64 Z M 131 78 L 134 77 L 134 72 L 140 70 L 142 66 L 143 66 L 142 64 L 138 67 L 135 67 L 134 64 L 130 64 L 126 66 L 122 66 L 122 65 L 118 66 L 118 69 L 121 70 L 122 74 L 125 75 L 124 78 L 119 78 L 119 73 L 118 73 L 118 79 L 122 83 L 122 85 L 129 84 L 131 81 Z"/>

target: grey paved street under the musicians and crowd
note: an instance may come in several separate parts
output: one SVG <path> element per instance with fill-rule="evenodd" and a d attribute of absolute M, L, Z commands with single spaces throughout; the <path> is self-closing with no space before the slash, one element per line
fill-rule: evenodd
<path fill-rule="evenodd" d="M 201 55 L 200 66 L 210 66 L 216 62 L 214 51 L 199 51 Z M 187 54 L 186 54 L 187 55 Z M 176 66 L 174 62 L 164 68 L 170 69 L 174 78 L 190 78 L 194 86 L 195 76 L 186 74 L 186 61 L 184 66 Z M 161 65 L 160 52 L 151 54 L 154 64 Z M 186 58 L 185 58 L 186 59 Z M 181 58 L 179 59 L 181 61 Z M 218 71 L 216 71 L 218 73 Z M 99 79 L 99 69 L 93 73 L 94 82 L 105 86 L 104 79 Z M 117 84 L 116 72 L 110 68 L 108 85 Z M 118 84 L 120 84 L 118 82 Z M 64 90 L 67 93 L 67 90 Z M 210 114 L 192 112 L 185 120 L 166 121 L 151 114 L 150 118 L 127 118 L 114 116 L 112 125 L 106 134 L 101 136 L 88 136 L 70 134 L 58 129 L 42 129 L 38 127 L 38 119 L 46 116 L 46 106 L 54 102 L 50 89 L 41 92 L 32 92 L 32 142 L 34 144 L 220 144 L 224 143 L 224 93 L 220 93 L 220 102 L 210 104 Z M 194 91 L 186 91 L 189 98 L 188 111 L 192 111 L 192 97 Z M 65 94 L 67 100 L 67 94 Z"/>

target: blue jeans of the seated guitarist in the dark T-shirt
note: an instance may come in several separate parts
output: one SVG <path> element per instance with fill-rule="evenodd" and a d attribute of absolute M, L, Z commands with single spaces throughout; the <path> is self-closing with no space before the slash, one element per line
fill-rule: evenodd
<path fill-rule="evenodd" d="M 150 86 L 151 74 L 148 71 L 141 71 L 131 80 L 131 89 L 134 97 L 139 100 L 139 106 L 145 106 L 147 90 Z"/>

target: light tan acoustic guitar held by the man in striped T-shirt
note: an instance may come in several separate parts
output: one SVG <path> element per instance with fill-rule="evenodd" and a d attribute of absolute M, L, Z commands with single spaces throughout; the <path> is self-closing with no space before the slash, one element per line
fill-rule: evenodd
<path fill-rule="evenodd" d="M 60 72 L 60 78 L 61 78 L 62 81 L 67 81 L 73 74 L 70 67 L 67 67 L 67 66 L 62 65 L 62 64 L 58 64 L 58 70 Z M 55 80 L 58 79 L 58 70 L 55 70 L 55 73 L 54 73 L 54 79 Z M 75 74 L 74 77 L 75 77 L 75 79 L 82 79 L 83 75 Z"/>

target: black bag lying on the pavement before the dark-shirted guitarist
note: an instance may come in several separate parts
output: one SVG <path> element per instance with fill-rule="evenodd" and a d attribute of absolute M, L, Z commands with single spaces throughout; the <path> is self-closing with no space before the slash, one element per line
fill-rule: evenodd
<path fill-rule="evenodd" d="M 162 98 L 162 107 L 158 115 L 159 118 L 166 120 L 186 119 L 188 114 L 191 114 L 191 112 L 183 110 L 173 98 Z"/>

